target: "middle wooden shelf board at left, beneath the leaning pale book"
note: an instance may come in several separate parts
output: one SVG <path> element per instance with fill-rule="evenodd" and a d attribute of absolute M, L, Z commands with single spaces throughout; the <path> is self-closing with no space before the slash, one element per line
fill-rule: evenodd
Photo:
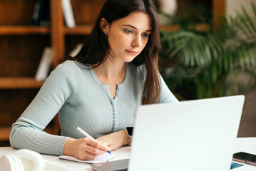
<path fill-rule="evenodd" d="M 31 77 L 0 78 L 0 89 L 41 88 L 43 81 L 36 81 Z"/>

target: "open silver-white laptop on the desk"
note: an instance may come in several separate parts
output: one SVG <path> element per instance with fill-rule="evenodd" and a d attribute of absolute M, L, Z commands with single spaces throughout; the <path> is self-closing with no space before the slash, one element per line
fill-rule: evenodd
<path fill-rule="evenodd" d="M 230 170 L 244 95 L 140 105 L 130 160 L 91 165 L 93 170 Z"/>

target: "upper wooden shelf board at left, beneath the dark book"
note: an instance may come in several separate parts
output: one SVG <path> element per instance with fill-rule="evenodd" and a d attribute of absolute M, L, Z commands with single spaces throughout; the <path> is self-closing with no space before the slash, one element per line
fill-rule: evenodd
<path fill-rule="evenodd" d="M 50 28 L 41 26 L 0 26 L 0 35 L 47 34 Z"/>

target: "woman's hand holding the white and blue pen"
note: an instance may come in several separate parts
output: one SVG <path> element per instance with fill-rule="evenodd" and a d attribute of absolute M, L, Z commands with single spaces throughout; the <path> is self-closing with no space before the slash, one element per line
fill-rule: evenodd
<path fill-rule="evenodd" d="M 79 160 L 94 160 L 98 155 L 104 155 L 111 149 L 104 142 L 91 138 L 68 138 L 65 142 L 63 153 L 71 155 Z"/>

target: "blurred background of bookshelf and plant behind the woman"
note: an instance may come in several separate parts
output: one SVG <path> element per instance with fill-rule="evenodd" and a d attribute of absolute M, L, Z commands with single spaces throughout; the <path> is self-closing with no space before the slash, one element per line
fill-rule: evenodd
<path fill-rule="evenodd" d="M 0 146 L 48 73 L 79 50 L 105 1 L 0 0 Z M 255 137 L 256 0 L 155 1 L 170 90 L 179 100 L 245 95 L 237 136 Z M 58 133 L 57 115 L 46 132 Z"/>

